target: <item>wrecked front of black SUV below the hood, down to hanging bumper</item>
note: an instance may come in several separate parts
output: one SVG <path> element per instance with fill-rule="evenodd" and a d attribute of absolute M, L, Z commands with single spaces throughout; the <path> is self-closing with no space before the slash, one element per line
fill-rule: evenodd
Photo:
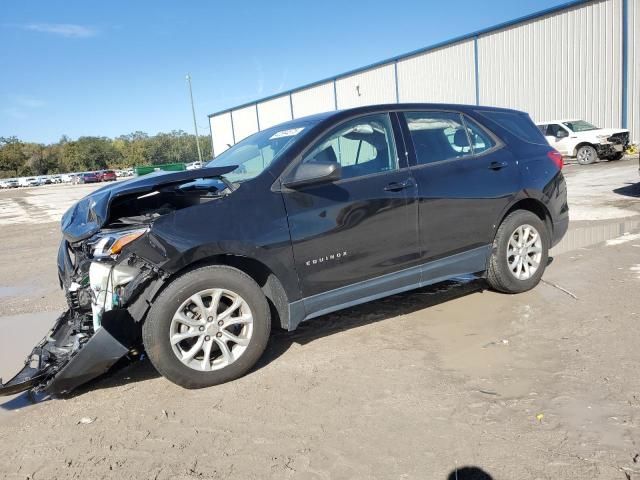
<path fill-rule="evenodd" d="M 62 241 L 58 269 L 69 309 L 36 345 L 24 368 L 6 384 L 0 382 L 0 395 L 68 393 L 141 351 L 140 323 L 127 307 L 136 300 L 146 303 L 139 294 L 162 273 L 135 256 L 87 255 L 84 250 L 91 247 L 89 241 L 74 246 Z"/>

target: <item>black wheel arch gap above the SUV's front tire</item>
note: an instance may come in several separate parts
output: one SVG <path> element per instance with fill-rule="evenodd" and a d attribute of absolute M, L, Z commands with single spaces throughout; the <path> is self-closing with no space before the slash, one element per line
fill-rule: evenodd
<path fill-rule="evenodd" d="M 289 325 L 289 298 L 287 293 L 271 269 L 253 258 L 229 254 L 215 255 L 191 263 L 182 270 L 175 272 L 171 277 L 173 279 L 186 272 L 208 265 L 226 265 L 237 268 L 249 275 L 267 297 L 271 310 L 272 324 L 287 329 Z"/>

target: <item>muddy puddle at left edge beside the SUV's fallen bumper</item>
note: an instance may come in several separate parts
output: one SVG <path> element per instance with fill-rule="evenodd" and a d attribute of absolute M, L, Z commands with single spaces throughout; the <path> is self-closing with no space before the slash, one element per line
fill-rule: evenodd
<path fill-rule="evenodd" d="M 27 313 L 0 317 L 0 378 L 8 381 L 24 365 L 24 360 L 55 322 L 55 312 Z M 24 394 L 0 397 L 0 420 L 11 412 L 28 406 Z"/>

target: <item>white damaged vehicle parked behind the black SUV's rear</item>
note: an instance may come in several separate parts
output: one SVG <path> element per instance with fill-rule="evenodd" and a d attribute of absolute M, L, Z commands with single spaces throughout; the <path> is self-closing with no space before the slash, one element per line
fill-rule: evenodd
<path fill-rule="evenodd" d="M 598 128 L 584 120 L 550 120 L 536 123 L 549 145 L 580 165 L 599 159 L 620 160 L 629 146 L 629 130 Z"/>

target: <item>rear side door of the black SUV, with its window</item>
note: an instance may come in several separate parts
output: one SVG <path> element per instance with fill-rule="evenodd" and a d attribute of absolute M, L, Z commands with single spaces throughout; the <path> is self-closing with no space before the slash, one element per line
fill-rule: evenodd
<path fill-rule="evenodd" d="M 404 112 L 402 118 L 418 182 L 423 260 L 472 250 L 483 258 L 519 189 L 515 158 L 495 135 L 458 112 Z"/>

